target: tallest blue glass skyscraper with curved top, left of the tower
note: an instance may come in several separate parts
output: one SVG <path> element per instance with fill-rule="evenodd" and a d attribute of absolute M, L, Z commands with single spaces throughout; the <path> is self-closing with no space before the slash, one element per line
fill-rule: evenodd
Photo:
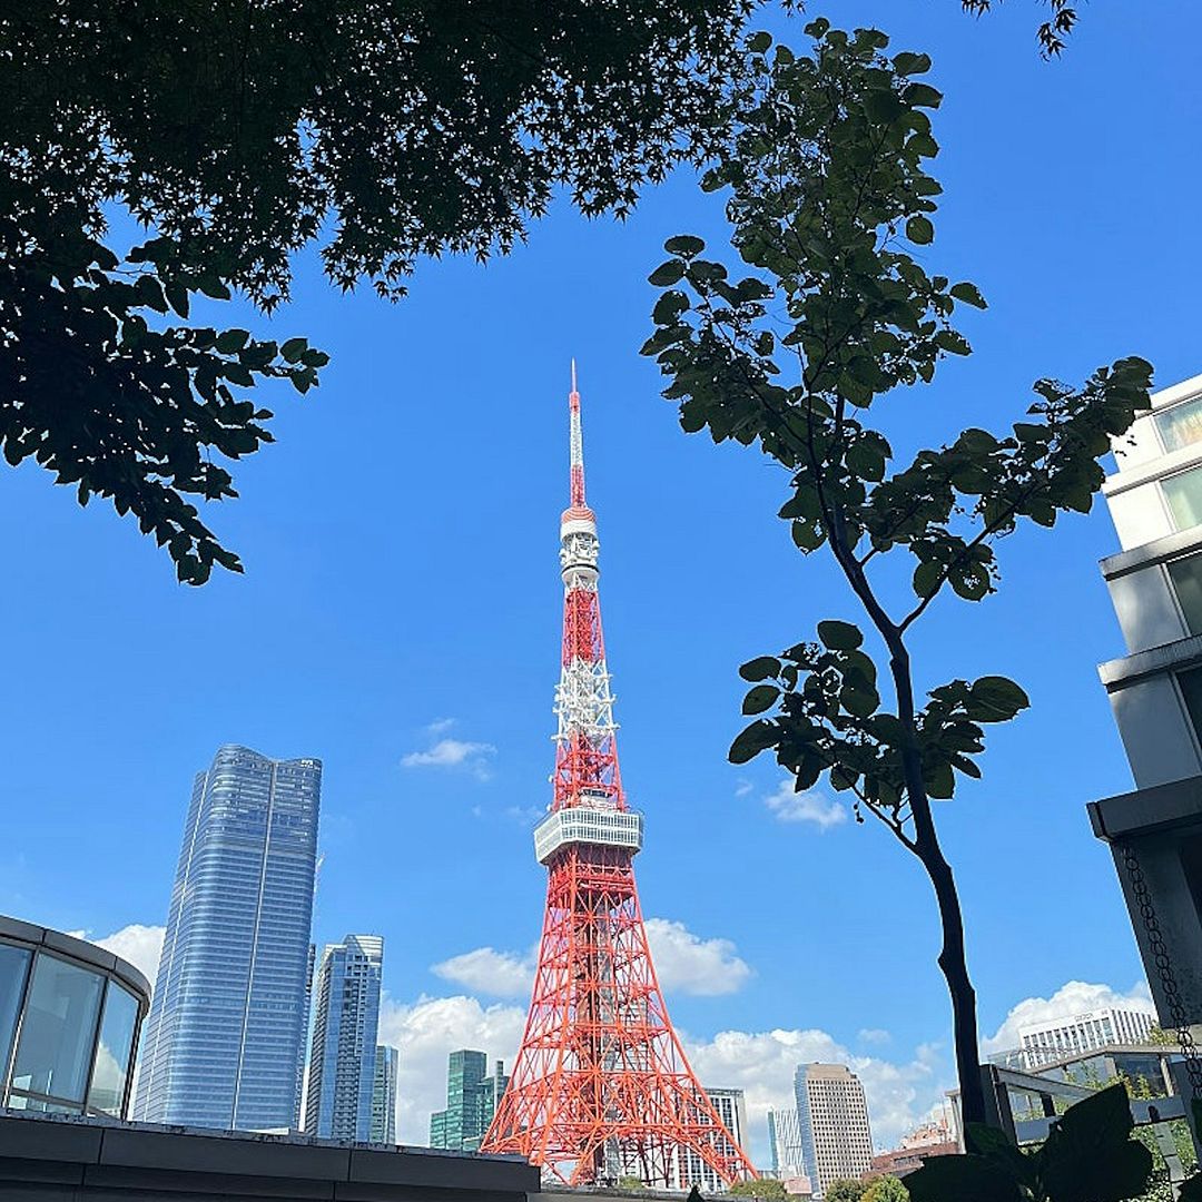
<path fill-rule="evenodd" d="M 197 774 L 135 1119 L 298 1125 L 320 799 L 320 760 L 227 745 Z"/>

